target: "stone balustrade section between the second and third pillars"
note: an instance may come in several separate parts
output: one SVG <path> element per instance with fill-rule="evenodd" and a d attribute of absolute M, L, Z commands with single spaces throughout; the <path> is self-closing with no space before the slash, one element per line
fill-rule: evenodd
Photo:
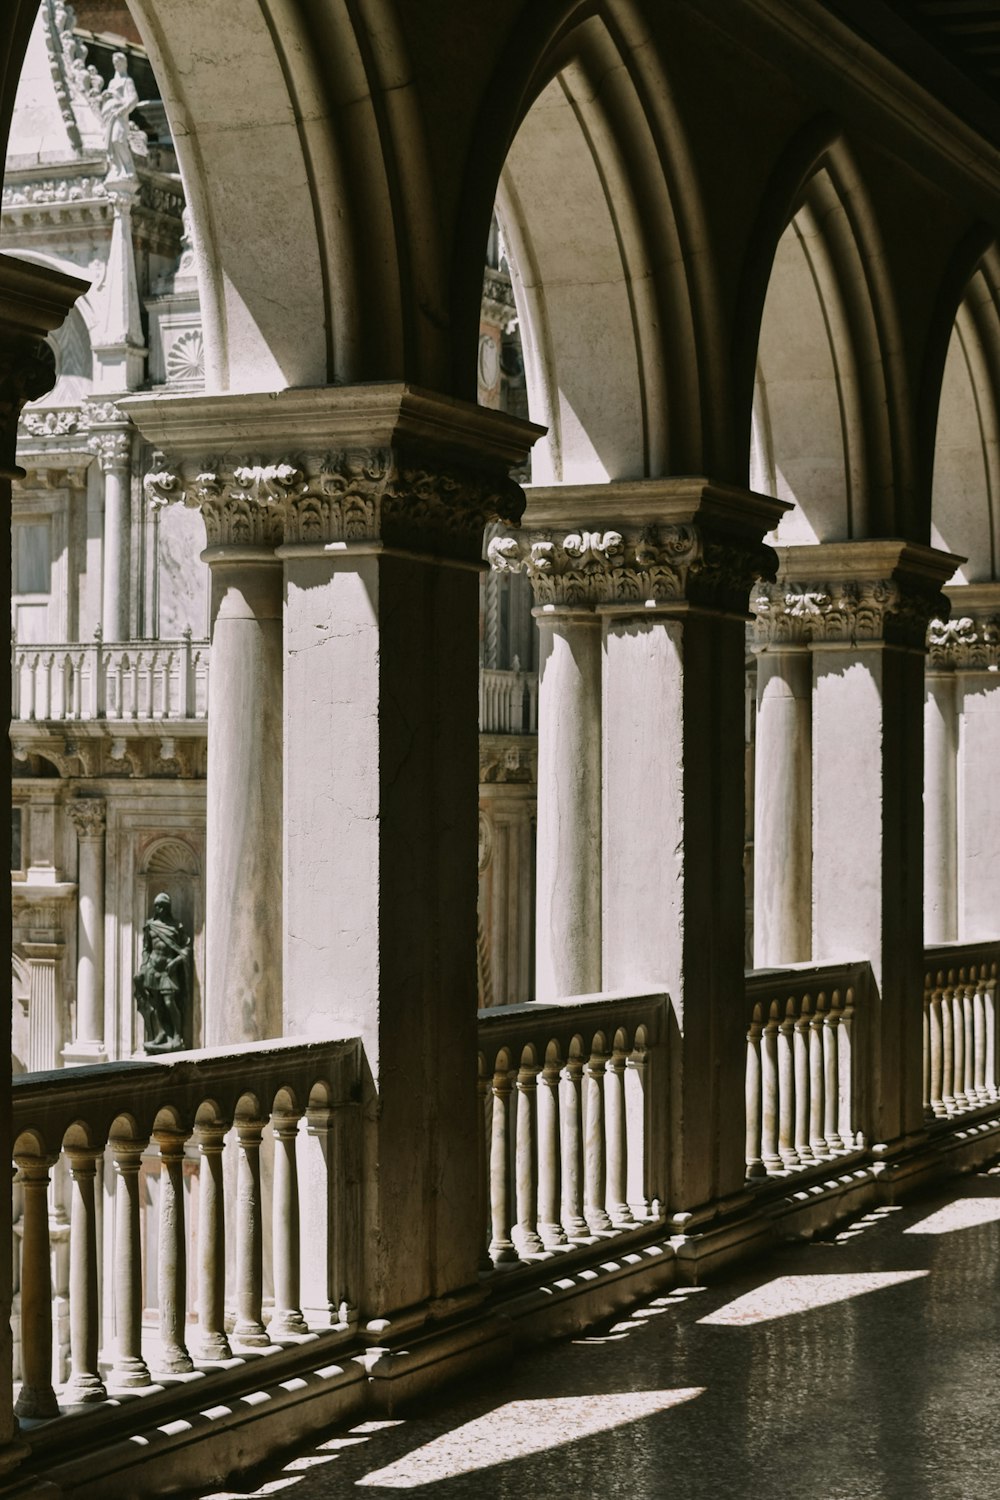
<path fill-rule="evenodd" d="M 867 963 L 790 964 L 747 975 L 747 1176 L 865 1146 Z"/>

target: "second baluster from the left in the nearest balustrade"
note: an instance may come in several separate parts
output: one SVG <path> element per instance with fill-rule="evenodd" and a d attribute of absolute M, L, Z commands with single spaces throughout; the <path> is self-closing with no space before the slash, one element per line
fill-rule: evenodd
<path fill-rule="evenodd" d="M 63 1401 L 103 1401 L 97 1310 L 97 1204 L 94 1188 L 103 1146 L 67 1146 L 70 1182 L 69 1212 L 69 1384 Z"/>

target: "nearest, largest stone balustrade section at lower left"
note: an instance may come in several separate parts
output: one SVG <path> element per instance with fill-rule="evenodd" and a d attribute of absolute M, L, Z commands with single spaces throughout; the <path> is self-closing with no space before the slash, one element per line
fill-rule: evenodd
<path fill-rule="evenodd" d="M 18 1077 L 18 1414 L 58 1416 L 165 1376 L 210 1374 L 243 1348 L 349 1328 L 358 1278 L 358 1080 L 354 1038 Z M 150 1168 L 159 1168 L 151 1197 Z M 57 1174 L 61 1194 L 51 1191 Z M 147 1197 L 153 1212 L 144 1220 Z M 55 1298 L 52 1221 L 69 1226 L 67 1288 L 57 1287 Z M 145 1264 L 153 1254 L 154 1268 Z M 189 1264 L 196 1328 L 187 1317 Z M 157 1310 L 151 1326 L 148 1287 Z M 54 1383 L 52 1335 L 66 1292 L 69 1378 L 57 1390 L 63 1362 L 57 1358 Z"/>

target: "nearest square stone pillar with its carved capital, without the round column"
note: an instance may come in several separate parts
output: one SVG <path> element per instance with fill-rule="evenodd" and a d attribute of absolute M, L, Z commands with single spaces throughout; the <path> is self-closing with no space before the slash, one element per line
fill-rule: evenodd
<path fill-rule="evenodd" d="M 129 411 L 178 464 L 177 492 L 250 534 L 282 513 L 283 1030 L 364 1046 L 358 1300 L 384 1336 L 393 1310 L 418 1322 L 483 1294 L 478 573 L 537 429 L 406 386 Z M 213 717 L 217 678 L 213 660 Z"/>

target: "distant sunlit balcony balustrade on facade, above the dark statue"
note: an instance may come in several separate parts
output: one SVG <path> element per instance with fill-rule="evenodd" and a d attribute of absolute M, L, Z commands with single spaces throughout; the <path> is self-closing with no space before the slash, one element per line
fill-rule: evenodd
<path fill-rule="evenodd" d="M 81 640 L 16 645 L 10 717 L 37 722 L 178 720 L 208 712 L 208 642 Z"/>

